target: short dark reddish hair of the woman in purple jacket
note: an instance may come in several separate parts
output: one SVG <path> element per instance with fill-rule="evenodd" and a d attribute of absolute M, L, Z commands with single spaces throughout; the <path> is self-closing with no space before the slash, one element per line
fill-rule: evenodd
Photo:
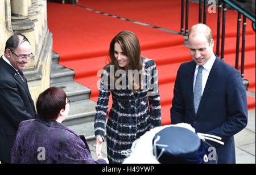
<path fill-rule="evenodd" d="M 43 119 L 57 119 L 60 110 L 65 109 L 66 98 L 66 93 L 59 87 L 46 89 L 36 101 L 36 109 L 39 116 Z"/>

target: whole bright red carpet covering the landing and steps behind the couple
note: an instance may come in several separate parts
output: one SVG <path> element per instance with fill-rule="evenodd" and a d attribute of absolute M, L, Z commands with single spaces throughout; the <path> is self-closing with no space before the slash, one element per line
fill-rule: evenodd
<path fill-rule="evenodd" d="M 180 1 L 80 0 L 79 5 L 173 31 L 179 31 L 180 27 Z M 90 99 L 94 101 L 97 101 L 97 81 L 100 79 L 96 74 L 106 65 L 111 39 L 119 31 L 133 31 L 141 43 L 142 56 L 154 59 L 156 62 L 162 121 L 163 125 L 170 123 L 176 71 L 182 62 L 191 61 L 188 48 L 183 46 L 182 36 L 97 14 L 77 6 L 47 3 L 47 8 L 48 27 L 53 33 L 53 50 L 60 54 L 60 64 L 75 70 L 75 81 L 92 90 Z M 196 8 L 197 6 L 191 3 L 194 12 Z M 236 37 L 232 36 L 236 36 L 237 14 L 233 11 L 229 11 L 228 14 L 229 20 L 234 19 L 226 24 L 228 37 L 225 38 L 224 61 L 234 66 Z M 215 30 L 213 26 L 216 25 L 214 19 L 216 17 L 211 16 L 209 18 L 211 20 L 208 19 L 211 22 L 209 25 Z M 191 15 L 190 18 L 192 20 L 190 25 L 197 22 L 196 15 Z M 214 40 L 216 41 L 216 37 Z M 250 82 L 249 91 L 255 92 L 255 33 L 251 32 L 250 26 L 247 27 L 245 58 L 245 79 Z M 241 54 L 239 63 L 241 65 Z M 109 106 L 111 104 L 110 100 Z M 255 98 L 248 97 L 248 108 L 255 109 Z"/>

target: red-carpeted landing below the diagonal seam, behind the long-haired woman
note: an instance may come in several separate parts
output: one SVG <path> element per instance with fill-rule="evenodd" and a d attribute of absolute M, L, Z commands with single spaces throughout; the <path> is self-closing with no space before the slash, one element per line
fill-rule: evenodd
<path fill-rule="evenodd" d="M 60 54 L 60 63 L 106 56 L 112 38 L 120 31 L 133 31 L 142 49 L 183 44 L 183 37 L 133 24 L 83 8 L 47 3 L 48 27 L 53 33 L 53 50 Z M 60 15 L 61 14 L 61 15 Z"/>

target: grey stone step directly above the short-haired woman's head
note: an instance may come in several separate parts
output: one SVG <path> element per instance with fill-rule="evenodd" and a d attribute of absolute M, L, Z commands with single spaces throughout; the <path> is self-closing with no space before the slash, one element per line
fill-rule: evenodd
<path fill-rule="evenodd" d="M 62 88 L 72 102 L 90 98 L 90 89 L 77 82 L 53 83 L 52 86 Z"/>

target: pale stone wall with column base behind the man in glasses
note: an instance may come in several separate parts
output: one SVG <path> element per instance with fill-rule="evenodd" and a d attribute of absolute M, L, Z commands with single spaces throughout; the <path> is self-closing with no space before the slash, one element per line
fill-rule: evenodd
<path fill-rule="evenodd" d="M 46 0 L 0 1 L 0 52 L 4 53 L 6 40 L 14 32 L 25 35 L 31 43 L 35 59 L 28 63 L 24 75 L 32 98 L 49 87 L 52 58 L 52 34 L 47 27 Z"/>

